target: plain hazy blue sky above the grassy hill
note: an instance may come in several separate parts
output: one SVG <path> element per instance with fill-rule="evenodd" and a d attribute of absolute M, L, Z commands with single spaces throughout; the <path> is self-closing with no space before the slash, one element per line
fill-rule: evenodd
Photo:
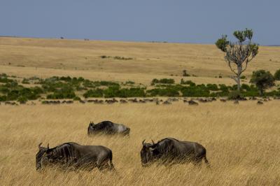
<path fill-rule="evenodd" d="M 214 43 L 253 29 L 280 44 L 279 0 L 0 0 L 0 35 Z"/>

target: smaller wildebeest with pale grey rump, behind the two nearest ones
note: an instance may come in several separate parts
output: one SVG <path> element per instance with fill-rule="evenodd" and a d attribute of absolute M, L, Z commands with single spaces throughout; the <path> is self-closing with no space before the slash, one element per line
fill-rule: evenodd
<path fill-rule="evenodd" d="M 97 133 L 130 135 L 130 128 L 126 127 L 124 124 L 113 123 L 110 121 L 99 122 L 97 124 L 90 122 L 87 127 L 87 134 L 91 135 Z"/>

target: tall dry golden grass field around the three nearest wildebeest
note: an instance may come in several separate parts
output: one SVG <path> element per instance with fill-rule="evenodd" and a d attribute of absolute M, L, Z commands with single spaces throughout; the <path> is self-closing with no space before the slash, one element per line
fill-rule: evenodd
<path fill-rule="evenodd" d="M 146 104 L 0 106 L 1 185 L 279 185 L 279 101 L 257 106 L 204 103 L 188 106 Z M 87 136 L 93 120 L 131 128 L 129 138 Z M 207 148 L 211 169 L 192 164 L 141 167 L 141 141 L 165 137 L 197 141 Z M 113 150 L 120 176 L 99 171 L 35 171 L 38 143 L 67 141 L 105 145 Z"/>

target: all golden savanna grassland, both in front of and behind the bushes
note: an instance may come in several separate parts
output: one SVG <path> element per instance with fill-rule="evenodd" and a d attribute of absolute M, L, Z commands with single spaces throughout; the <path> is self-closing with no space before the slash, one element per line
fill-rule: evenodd
<path fill-rule="evenodd" d="M 274 73 L 279 68 L 280 48 L 260 47 L 244 82 L 254 70 Z M 191 75 L 184 79 L 195 83 L 234 84 L 227 78 L 231 73 L 223 54 L 214 45 L 0 37 L 0 73 L 19 78 L 81 76 L 148 86 L 153 78 L 179 82 L 184 69 Z M 219 75 L 223 78 L 216 78 Z M 183 101 L 170 105 L 34 102 L 0 105 L 1 185 L 280 185 L 280 100 L 198 106 Z M 89 122 L 102 120 L 126 124 L 130 137 L 88 137 Z M 165 137 L 204 145 L 211 168 L 204 164 L 143 168 L 141 142 Z M 56 167 L 36 172 L 38 143 L 50 143 L 52 148 L 68 141 L 111 148 L 118 175 Z"/>

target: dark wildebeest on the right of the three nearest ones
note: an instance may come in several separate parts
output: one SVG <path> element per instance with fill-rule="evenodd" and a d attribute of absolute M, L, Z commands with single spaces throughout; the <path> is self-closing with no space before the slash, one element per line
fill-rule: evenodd
<path fill-rule="evenodd" d="M 175 138 L 164 138 L 158 143 L 142 142 L 141 163 L 142 166 L 161 160 L 163 164 L 178 164 L 193 162 L 200 165 L 202 159 L 209 166 L 206 149 L 200 143 L 179 141 Z"/>

